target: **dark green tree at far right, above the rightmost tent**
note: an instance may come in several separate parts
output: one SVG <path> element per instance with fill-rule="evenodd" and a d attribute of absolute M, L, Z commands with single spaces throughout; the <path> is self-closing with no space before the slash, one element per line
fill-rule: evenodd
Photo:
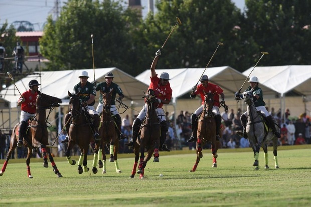
<path fill-rule="evenodd" d="M 311 0 L 246 0 L 245 26 L 265 66 L 311 64 Z"/>

